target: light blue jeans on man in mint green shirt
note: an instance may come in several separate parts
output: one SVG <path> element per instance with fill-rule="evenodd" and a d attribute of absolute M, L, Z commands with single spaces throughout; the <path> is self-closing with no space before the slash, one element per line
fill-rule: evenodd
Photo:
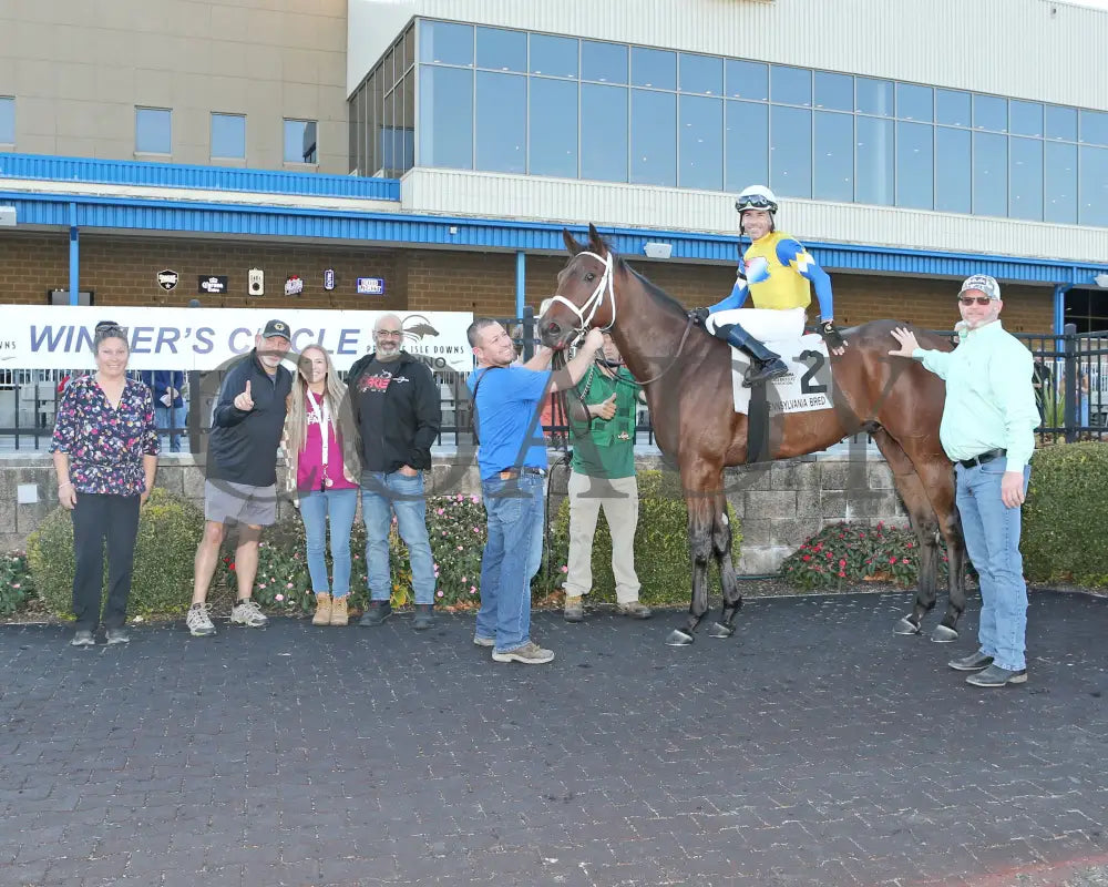
<path fill-rule="evenodd" d="M 954 470 L 966 551 L 981 581 L 981 650 L 1002 669 L 1020 671 L 1027 667 L 1027 584 L 1019 554 L 1019 509 L 1001 501 L 1005 461 L 994 459 L 973 468 L 958 465 Z M 1025 492 L 1030 475 L 1027 466 Z"/>

